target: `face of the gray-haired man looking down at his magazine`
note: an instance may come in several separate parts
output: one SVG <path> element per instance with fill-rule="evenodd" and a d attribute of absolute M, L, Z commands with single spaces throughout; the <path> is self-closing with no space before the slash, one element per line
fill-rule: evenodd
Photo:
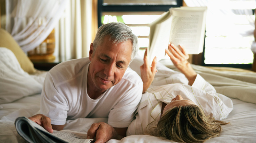
<path fill-rule="evenodd" d="M 109 37 L 106 36 L 103 43 L 97 47 L 94 56 L 92 56 L 93 44 L 91 44 L 89 53 L 91 63 L 87 82 L 95 91 L 104 92 L 116 85 L 122 79 L 131 60 L 131 41 L 115 45 L 108 39 Z"/>

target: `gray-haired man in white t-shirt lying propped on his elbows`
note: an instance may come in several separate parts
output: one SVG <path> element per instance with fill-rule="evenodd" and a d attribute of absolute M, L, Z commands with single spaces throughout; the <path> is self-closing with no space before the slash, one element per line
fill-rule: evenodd
<path fill-rule="evenodd" d="M 138 39 L 128 26 L 101 26 L 89 57 L 62 62 L 48 72 L 41 114 L 30 119 L 52 132 L 62 130 L 66 119 L 108 117 L 108 124 L 91 126 L 88 138 L 95 137 L 96 142 L 121 139 L 142 95 L 142 80 L 128 67 L 137 51 Z"/>

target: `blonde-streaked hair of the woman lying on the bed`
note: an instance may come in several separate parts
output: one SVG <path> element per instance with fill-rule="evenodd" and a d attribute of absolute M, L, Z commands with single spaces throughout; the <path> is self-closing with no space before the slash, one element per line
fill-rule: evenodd
<path fill-rule="evenodd" d="M 225 124 L 228 123 L 205 116 L 197 105 L 185 105 L 165 112 L 147 133 L 176 142 L 198 143 L 219 136 L 221 125 Z"/>

